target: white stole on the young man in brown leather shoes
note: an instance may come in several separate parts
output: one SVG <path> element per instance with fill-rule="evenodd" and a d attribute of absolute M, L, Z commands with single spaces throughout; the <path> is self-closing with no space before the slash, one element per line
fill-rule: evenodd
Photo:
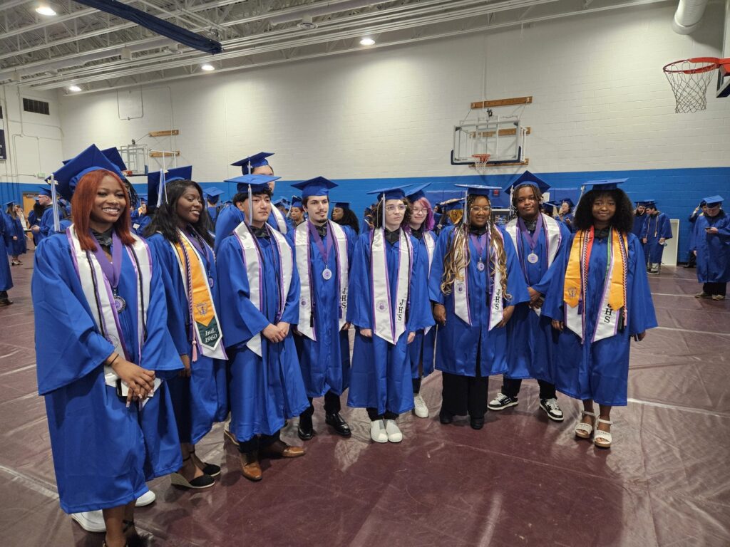
<path fill-rule="evenodd" d="M 266 230 L 269 232 L 269 236 L 276 244 L 279 251 L 279 309 L 277 311 L 278 322 L 284 313 L 284 307 L 286 306 L 286 297 L 289 294 L 289 287 L 291 287 L 291 275 L 293 273 L 293 257 L 292 250 L 289 247 L 286 238 L 282 236 L 277 230 L 274 230 L 266 222 L 264 222 Z M 241 222 L 234 230 L 233 233 L 236 235 L 243 254 L 243 263 L 246 268 L 246 276 L 248 279 L 248 299 L 251 300 L 255 309 L 261 311 L 263 307 L 264 291 L 262 290 L 261 283 L 263 282 L 263 276 L 261 274 L 261 252 L 258 250 L 258 242 L 251 233 L 246 222 Z M 261 357 L 261 333 L 253 336 L 249 341 L 246 342 L 246 346 L 258 357 Z"/>

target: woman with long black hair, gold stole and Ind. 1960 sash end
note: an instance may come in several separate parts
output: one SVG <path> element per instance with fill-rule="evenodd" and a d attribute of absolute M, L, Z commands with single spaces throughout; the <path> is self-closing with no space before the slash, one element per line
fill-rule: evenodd
<path fill-rule="evenodd" d="M 191 180 L 166 185 L 145 237 L 161 265 L 167 326 L 185 370 L 169 379 L 183 467 L 172 484 L 190 489 L 213 486 L 220 467 L 203 462 L 195 445 L 214 422 L 228 415 L 226 352 L 218 319 L 218 284 L 212 238 L 201 187 Z M 150 195 L 157 193 L 149 188 Z"/>

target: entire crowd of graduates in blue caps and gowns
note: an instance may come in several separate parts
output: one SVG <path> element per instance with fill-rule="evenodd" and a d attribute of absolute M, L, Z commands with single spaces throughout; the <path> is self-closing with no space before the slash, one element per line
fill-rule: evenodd
<path fill-rule="evenodd" d="M 107 546 L 139 543 L 147 481 L 214 486 L 220 466 L 195 451 L 213 424 L 226 422 L 240 472 L 260 481 L 262 459 L 306 454 L 280 432 L 298 419 L 310 441 L 319 397 L 334 434 L 352 435 L 344 395 L 366 410 L 373 442 L 401 442 L 401 414 L 430 414 L 420 385 L 434 370 L 442 424 L 467 416 L 480 430 L 536 379 L 550 420 L 564 420 L 558 393 L 581 400 L 572 432 L 612 446 L 631 341 L 657 325 L 647 274 L 671 230 L 656 203 L 634 209 L 613 179 L 588 182 L 575 208 L 544 209 L 549 185 L 526 171 L 505 189 L 461 185 L 464 198 L 437 207 L 428 185 L 374 190 L 358 222 L 323 176 L 272 202 L 271 155 L 234 163 L 242 175 L 223 206 L 191 167 L 150 174 L 137 196 L 118 152 L 92 145 L 53 174 L 70 212 L 47 189 L 33 219 L 8 205 L 12 263 L 27 230 L 37 242 L 38 387 L 64 511 L 106 530 Z M 500 192 L 514 212 L 504 223 L 491 209 Z M 699 296 L 715 300 L 730 280 L 721 201 L 695 212 L 691 244 Z"/>

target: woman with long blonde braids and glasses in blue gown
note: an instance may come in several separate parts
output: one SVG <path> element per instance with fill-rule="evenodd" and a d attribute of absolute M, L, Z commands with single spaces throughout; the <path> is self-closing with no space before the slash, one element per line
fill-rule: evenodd
<path fill-rule="evenodd" d="M 466 186 L 466 212 L 442 230 L 434 251 L 429 294 L 437 333 L 436 368 L 442 371 L 439 419 L 469 414 L 484 425 L 488 377 L 507 371 L 507 329 L 515 305 L 529 302 L 515 248 L 491 222 L 489 186 Z"/>

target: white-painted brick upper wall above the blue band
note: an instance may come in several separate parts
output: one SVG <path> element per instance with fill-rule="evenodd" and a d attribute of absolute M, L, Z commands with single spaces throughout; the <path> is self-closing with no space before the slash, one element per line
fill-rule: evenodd
<path fill-rule="evenodd" d="M 672 31 L 674 9 L 653 4 L 208 74 L 143 89 L 138 120 L 119 119 L 115 91 L 65 96 L 64 157 L 90 142 L 109 147 L 177 128 L 177 138 L 145 142 L 181 150 L 178 164 L 192 163 L 200 181 L 237 174 L 228 163 L 259 150 L 277 152 L 274 168 L 288 179 L 470 174 L 448 157 L 453 125 L 483 98 L 485 67 L 487 98 L 534 96 L 523 108 L 531 170 L 729 166 L 730 99 L 711 90 L 707 111 L 676 115 L 661 71 L 669 61 L 719 55 L 722 6 L 711 4 L 691 36 Z"/>

